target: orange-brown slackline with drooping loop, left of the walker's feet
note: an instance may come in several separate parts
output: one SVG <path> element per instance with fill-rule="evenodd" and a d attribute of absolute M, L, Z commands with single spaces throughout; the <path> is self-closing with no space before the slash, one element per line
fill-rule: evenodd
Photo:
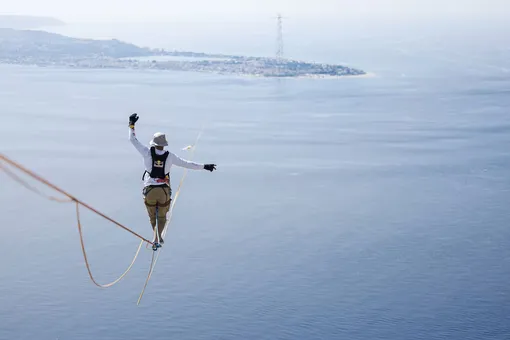
<path fill-rule="evenodd" d="M 37 181 L 49 186 L 50 188 L 60 192 L 61 194 L 63 194 L 64 196 L 67 197 L 67 199 L 60 199 L 60 198 L 56 198 L 56 197 L 53 197 L 53 196 L 48 196 L 48 195 L 45 195 L 43 194 L 42 192 L 40 192 L 39 190 L 37 190 L 36 188 L 34 188 L 33 186 L 29 185 L 28 183 L 26 183 L 24 180 L 22 180 L 20 177 L 18 177 L 16 174 L 14 174 L 12 171 L 10 171 L 7 167 L 5 167 L 4 165 L 2 165 L 0 163 L 0 170 L 3 170 L 8 176 L 10 176 L 11 178 L 13 178 L 15 181 L 17 181 L 18 183 L 22 184 L 24 187 L 26 187 L 27 189 L 49 199 L 49 200 L 53 200 L 53 201 L 56 201 L 56 202 L 59 202 L 59 203 L 70 203 L 70 202 L 75 202 L 76 203 L 76 219 L 77 219 L 77 224 L 78 224 L 78 233 L 80 235 L 80 244 L 81 244 L 81 248 L 82 248 L 82 252 L 83 252 L 83 258 L 85 260 L 85 266 L 87 268 L 87 272 L 89 274 L 89 277 L 90 279 L 92 280 L 92 282 L 98 286 L 98 287 L 101 287 L 101 288 L 108 288 L 108 287 L 111 287 L 113 286 L 114 284 L 118 283 L 120 280 L 122 280 L 126 275 L 127 273 L 131 270 L 131 268 L 133 267 L 133 264 L 135 263 L 139 253 L 140 253 L 140 249 L 142 248 L 142 245 L 144 242 L 147 242 L 149 244 L 153 244 L 152 242 L 150 242 L 149 240 L 145 239 L 144 237 L 140 236 L 139 234 L 137 234 L 136 232 L 132 231 L 131 229 L 123 226 L 122 224 L 120 224 L 119 222 L 111 219 L 110 217 L 106 216 L 105 214 L 97 211 L 96 209 L 92 208 L 91 206 L 89 206 L 88 204 L 78 200 L 76 197 L 68 194 L 67 192 L 65 192 L 64 190 L 58 188 L 57 186 L 55 186 L 54 184 L 51 184 L 50 182 L 48 182 L 47 180 L 45 180 L 44 178 L 40 177 L 39 175 L 36 175 L 35 173 L 33 173 L 32 171 L 26 169 L 25 167 L 23 167 L 22 165 L 14 162 L 13 160 L 7 158 L 6 156 L 4 156 L 3 154 L 0 154 L 0 160 L 1 161 L 4 161 L 6 163 L 8 163 L 9 165 L 17 168 L 18 170 L 21 170 L 22 172 L 24 172 L 25 174 L 29 175 L 30 177 L 36 179 Z M 87 252 L 85 251 L 85 244 L 84 244 L 84 241 L 83 241 L 83 231 L 82 231 L 82 227 L 81 227 L 81 221 L 80 221 L 80 214 L 79 214 L 79 206 L 82 205 L 84 206 L 85 208 L 91 210 L 92 212 L 98 214 L 99 216 L 105 218 L 106 220 L 114 223 L 115 225 L 121 227 L 122 229 L 124 230 L 127 230 L 129 231 L 131 234 L 135 235 L 136 237 L 138 237 L 141 241 L 140 241 L 140 245 L 138 246 L 138 249 L 136 251 L 136 254 L 135 256 L 133 257 L 133 260 L 131 261 L 131 264 L 128 266 L 128 268 L 126 269 L 126 271 L 124 271 L 124 273 L 118 277 L 115 281 L 112 281 L 110 283 L 107 283 L 107 284 L 100 284 L 98 283 L 95 279 L 94 279 L 94 276 L 92 275 L 92 271 L 90 269 L 90 265 L 89 265 L 89 262 L 88 262 L 88 258 L 87 258 Z M 154 256 L 154 254 L 153 254 Z"/>

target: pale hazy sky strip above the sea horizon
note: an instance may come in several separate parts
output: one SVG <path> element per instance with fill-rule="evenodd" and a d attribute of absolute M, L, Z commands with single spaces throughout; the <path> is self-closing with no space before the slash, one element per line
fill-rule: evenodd
<path fill-rule="evenodd" d="M 243 21 L 295 18 L 501 19 L 510 0 L 0 0 L 1 14 L 54 16 L 64 21 Z"/>

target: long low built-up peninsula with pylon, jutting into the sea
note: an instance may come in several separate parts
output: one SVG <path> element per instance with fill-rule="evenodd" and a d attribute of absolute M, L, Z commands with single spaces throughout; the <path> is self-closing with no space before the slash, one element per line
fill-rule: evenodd
<path fill-rule="evenodd" d="M 261 77 L 364 75 L 359 69 L 297 60 L 150 49 L 116 39 L 0 28 L 0 63 L 89 69 L 150 69 Z"/>

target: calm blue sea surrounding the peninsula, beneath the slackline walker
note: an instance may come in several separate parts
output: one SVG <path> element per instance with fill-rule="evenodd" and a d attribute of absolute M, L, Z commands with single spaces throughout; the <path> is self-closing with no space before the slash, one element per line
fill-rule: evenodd
<path fill-rule="evenodd" d="M 178 34 L 160 28 L 114 33 L 169 47 Z M 129 115 L 142 143 L 164 132 L 217 165 L 172 168 L 172 220 L 137 305 L 153 251 L 95 286 L 75 204 L 1 163 L 32 190 L 0 171 L 0 339 L 510 339 L 509 31 L 375 28 L 285 35 L 286 56 L 364 77 L 0 65 L 2 156 L 143 237 Z M 229 32 L 175 45 L 274 50 L 269 31 Z M 92 274 L 111 282 L 139 239 L 79 213 Z"/>

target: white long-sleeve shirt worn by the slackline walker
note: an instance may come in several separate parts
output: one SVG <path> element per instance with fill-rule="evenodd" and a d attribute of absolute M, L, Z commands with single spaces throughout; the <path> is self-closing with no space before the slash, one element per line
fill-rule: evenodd
<path fill-rule="evenodd" d="M 135 130 L 131 129 L 131 128 L 129 129 L 129 140 L 134 145 L 136 150 L 138 150 L 138 152 L 142 155 L 145 170 L 147 170 L 147 172 L 150 173 L 152 171 L 152 157 L 151 157 L 150 148 L 146 147 L 145 145 L 140 143 L 140 141 L 138 141 L 138 139 L 136 138 Z M 155 151 L 156 151 L 156 154 L 158 154 L 158 155 L 162 155 L 166 152 L 165 150 L 158 150 L 158 149 L 156 149 Z M 165 163 L 165 174 L 170 173 L 170 168 L 172 167 L 172 165 L 176 165 L 176 166 L 180 166 L 180 167 L 192 169 L 192 170 L 201 170 L 204 168 L 204 164 L 195 163 L 192 161 L 185 160 L 169 151 L 168 157 L 167 157 L 166 163 Z M 147 174 L 145 175 L 144 186 L 163 185 L 163 184 L 165 184 L 165 182 L 162 181 L 161 179 L 151 178 L 149 175 L 147 175 Z"/>

